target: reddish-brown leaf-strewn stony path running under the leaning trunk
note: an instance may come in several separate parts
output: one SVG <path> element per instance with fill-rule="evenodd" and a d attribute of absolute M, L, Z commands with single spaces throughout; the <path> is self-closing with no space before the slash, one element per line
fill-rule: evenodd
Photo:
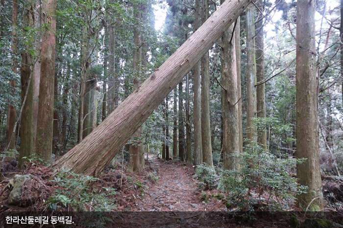
<path fill-rule="evenodd" d="M 192 179 L 194 167 L 180 161 L 151 158 L 147 168 L 156 171 L 158 181 L 145 190 L 145 196 L 136 203 L 137 211 L 213 211 L 225 210 L 219 201 L 203 203 L 201 190 Z M 213 190 L 217 191 L 217 190 Z"/>

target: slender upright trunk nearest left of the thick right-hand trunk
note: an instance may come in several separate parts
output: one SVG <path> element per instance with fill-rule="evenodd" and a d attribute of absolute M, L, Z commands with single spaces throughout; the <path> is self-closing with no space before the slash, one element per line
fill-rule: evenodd
<path fill-rule="evenodd" d="M 263 12 L 263 2 L 258 0 L 256 6 Z M 263 44 L 263 20 L 262 13 L 257 10 L 256 23 L 256 81 L 261 82 L 265 79 L 264 67 L 264 44 Z M 266 97 L 265 97 L 265 84 L 256 86 L 256 99 L 257 99 L 257 117 L 266 117 Z M 267 149 L 267 129 L 264 128 L 262 132 L 258 132 L 257 142 Z"/>

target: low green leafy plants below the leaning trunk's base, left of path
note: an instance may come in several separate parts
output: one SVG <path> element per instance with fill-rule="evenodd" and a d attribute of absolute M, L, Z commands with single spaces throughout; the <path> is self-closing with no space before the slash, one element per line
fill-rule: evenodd
<path fill-rule="evenodd" d="M 57 210 L 64 205 L 77 211 L 110 211 L 114 209 L 116 205 L 108 196 L 115 196 L 115 189 L 102 188 L 99 192 L 90 191 L 91 184 L 98 180 L 98 178 L 73 173 L 71 170 L 60 170 L 52 180 L 59 187 L 49 198 L 48 208 Z"/>

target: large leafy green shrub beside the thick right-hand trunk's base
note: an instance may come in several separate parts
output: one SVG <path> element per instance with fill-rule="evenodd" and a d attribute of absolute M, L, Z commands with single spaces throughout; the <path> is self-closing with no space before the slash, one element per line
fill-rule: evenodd
<path fill-rule="evenodd" d="M 219 188 L 228 194 L 227 204 L 242 210 L 286 209 L 294 204 L 294 194 L 299 188 L 290 174 L 296 160 L 279 159 L 257 143 L 249 142 L 239 156 L 241 170 L 225 170 Z M 298 160 L 303 162 L 303 160 Z"/>

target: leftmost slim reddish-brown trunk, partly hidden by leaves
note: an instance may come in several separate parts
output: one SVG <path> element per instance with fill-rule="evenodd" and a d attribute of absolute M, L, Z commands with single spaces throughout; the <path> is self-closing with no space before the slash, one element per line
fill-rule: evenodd
<path fill-rule="evenodd" d="M 17 25 L 18 25 L 18 2 L 17 0 L 13 0 L 12 4 L 12 46 L 11 51 L 14 55 L 16 55 L 17 52 Z M 17 61 L 13 58 L 12 60 L 12 72 L 13 74 L 17 74 Z M 14 80 L 10 81 L 10 91 L 12 93 L 12 96 L 14 98 L 15 96 L 15 88 L 17 87 L 17 83 Z M 8 144 L 11 141 L 13 128 L 16 124 L 17 120 L 17 110 L 15 106 L 15 100 L 10 99 L 8 101 L 8 115 L 7 115 L 7 126 L 6 126 L 6 148 L 8 147 Z M 16 149 L 15 147 L 15 137 L 13 137 L 11 145 L 9 145 L 8 149 Z"/>

